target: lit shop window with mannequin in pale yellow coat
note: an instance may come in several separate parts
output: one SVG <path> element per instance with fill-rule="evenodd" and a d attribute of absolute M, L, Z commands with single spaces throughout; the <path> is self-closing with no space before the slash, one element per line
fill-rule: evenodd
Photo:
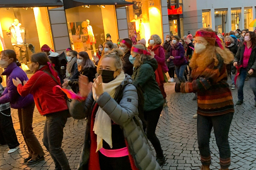
<path fill-rule="evenodd" d="M 71 47 L 78 52 L 87 51 L 90 58 L 98 52 L 107 34 L 111 35 L 111 41 L 117 42 L 114 6 L 78 6 L 66 9 L 66 17 Z"/>

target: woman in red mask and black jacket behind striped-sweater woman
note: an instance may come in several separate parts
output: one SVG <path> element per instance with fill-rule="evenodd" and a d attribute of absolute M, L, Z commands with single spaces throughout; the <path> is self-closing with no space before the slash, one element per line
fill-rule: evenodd
<path fill-rule="evenodd" d="M 232 37 L 230 36 L 225 37 L 225 46 L 232 52 L 234 56 L 236 55 L 238 46 L 236 45 L 235 40 Z M 236 67 L 234 67 L 233 62 L 227 65 L 227 73 L 231 75 L 231 79 L 232 79 L 232 84 L 230 85 L 232 86 L 231 89 L 235 90 L 236 89 L 236 85 L 235 85 Z"/>

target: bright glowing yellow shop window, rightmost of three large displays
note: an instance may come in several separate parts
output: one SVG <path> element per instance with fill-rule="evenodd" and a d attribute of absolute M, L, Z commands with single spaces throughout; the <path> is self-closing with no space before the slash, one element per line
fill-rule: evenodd
<path fill-rule="evenodd" d="M 144 38 L 147 44 L 152 34 L 162 38 L 160 2 L 157 0 L 127 1 L 134 3 L 133 6 L 126 7 L 129 38 L 136 37 L 137 40 Z"/>

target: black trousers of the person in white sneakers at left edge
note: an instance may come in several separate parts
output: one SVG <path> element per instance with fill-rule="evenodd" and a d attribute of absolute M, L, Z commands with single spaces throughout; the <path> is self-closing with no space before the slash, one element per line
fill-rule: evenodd
<path fill-rule="evenodd" d="M 11 108 L 0 113 L 0 144 L 8 144 L 9 149 L 14 149 L 20 145 L 12 123 Z"/>

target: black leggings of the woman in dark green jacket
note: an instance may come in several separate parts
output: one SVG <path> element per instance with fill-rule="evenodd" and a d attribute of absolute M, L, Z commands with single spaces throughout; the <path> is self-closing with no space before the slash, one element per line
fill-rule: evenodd
<path fill-rule="evenodd" d="M 160 144 L 159 139 L 156 136 L 156 128 L 157 128 L 157 123 L 160 117 L 160 114 L 163 110 L 163 106 L 160 106 L 159 108 L 156 108 L 152 111 L 144 111 L 144 116 L 145 120 L 147 121 L 147 126 L 146 128 L 143 127 L 143 129 L 146 129 L 146 135 L 148 137 L 148 140 L 151 142 L 153 145 L 156 153 L 157 153 L 157 158 L 163 158 L 163 150 Z"/>

